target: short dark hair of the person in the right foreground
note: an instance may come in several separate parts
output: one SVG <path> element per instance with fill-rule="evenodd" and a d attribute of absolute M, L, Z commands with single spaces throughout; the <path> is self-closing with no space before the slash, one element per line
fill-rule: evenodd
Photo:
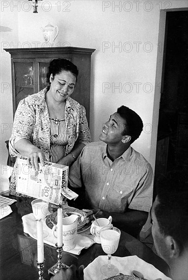
<path fill-rule="evenodd" d="M 188 244 L 187 170 L 160 177 L 156 185 L 159 204 L 155 207 L 155 215 L 160 232 L 173 237 L 182 251 Z"/>

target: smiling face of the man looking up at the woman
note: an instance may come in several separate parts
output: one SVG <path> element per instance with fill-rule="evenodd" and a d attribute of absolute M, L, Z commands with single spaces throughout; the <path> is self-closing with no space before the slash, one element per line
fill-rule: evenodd
<path fill-rule="evenodd" d="M 117 145 L 122 143 L 125 129 L 125 120 L 116 112 L 110 116 L 109 120 L 104 124 L 99 139 L 106 144 Z"/>

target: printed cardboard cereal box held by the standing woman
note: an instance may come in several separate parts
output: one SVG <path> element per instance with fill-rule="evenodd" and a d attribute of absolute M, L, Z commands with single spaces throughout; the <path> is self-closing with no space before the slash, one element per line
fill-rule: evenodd
<path fill-rule="evenodd" d="M 72 199 L 67 188 L 68 166 L 52 162 L 45 162 L 44 167 L 39 163 L 39 166 L 40 170 L 34 171 L 26 158 L 18 158 L 16 191 L 56 205 L 60 204 L 61 193 L 67 193 L 68 199 Z"/>

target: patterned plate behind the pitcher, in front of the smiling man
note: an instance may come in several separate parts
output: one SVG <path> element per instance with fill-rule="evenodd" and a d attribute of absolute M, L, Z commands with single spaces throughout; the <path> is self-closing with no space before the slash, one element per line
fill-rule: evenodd
<path fill-rule="evenodd" d="M 79 210 L 77 208 L 66 208 L 63 209 L 63 217 L 70 216 L 71 214 L 76 214 L 79 216 L 78 219 L 78 230 L 83 228 L 86 225 L 86 218 L 85 218 L 85 212 L 82 210 Z M 53 212 L 50 215 L 50 221 L 53 223 L 53 225 L 57 225 L 57 211 Z"/>

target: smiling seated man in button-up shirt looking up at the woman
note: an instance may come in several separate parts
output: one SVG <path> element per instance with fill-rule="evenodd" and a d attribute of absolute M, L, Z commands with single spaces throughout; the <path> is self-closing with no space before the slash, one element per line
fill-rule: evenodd
<path fill-rule="evenodd" d="M 104 124 L 101 142 L 86 145 L 69 168 L 70 186 L 85 189 L 87 216 L 110 215 L 114 226 L 135 237 L 147 219 L 153 198 L 152 167 L 131 147 L 142 128 L 141 118 L 121 106 Z"/>

